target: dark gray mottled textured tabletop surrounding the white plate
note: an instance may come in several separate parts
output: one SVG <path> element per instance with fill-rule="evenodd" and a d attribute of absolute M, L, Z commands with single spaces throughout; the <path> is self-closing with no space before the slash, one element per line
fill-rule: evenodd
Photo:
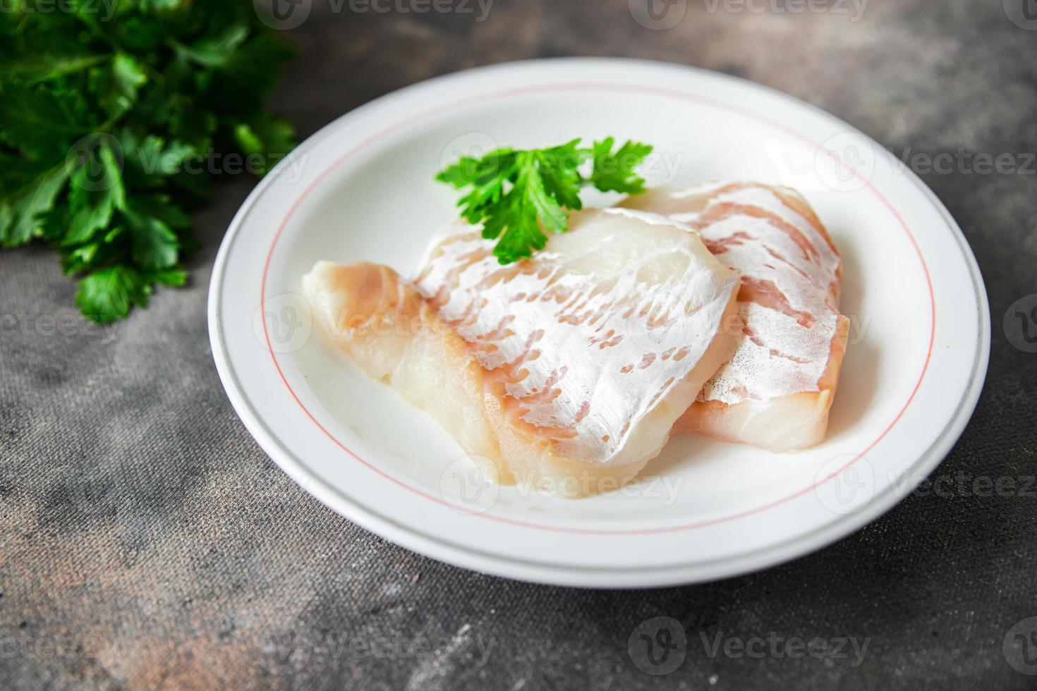
<path fill-rule="evenodd" d="M 1019 17 L 1025 1 L 1008 8 Z M 1019 487 L 1037 473 L 1037 354 L 1002 327 L 1037 293 L 1037 176 L 1033 164 L 983 174 L 957 155 L 1022 166 L 1037 150 L 1037 31 L 1001 0 L 870 0 L 858 21 L 838 11 L 848 3 L 688 4 L 676 27 L 650 31 L 626 0 L 497 0 L 481 23 L 313 0 L 289 33 L 303 53 L 275 105 L 306 136 L 463 67 L 637 56 L 787 91 L 898 155 L 956 154 L 954 170 L 923 177 L 979 259 L 993 345 L 976 415 L 936 471 L 943 491 L 792 564 L 649 592 L 529 585 L 388 544 L 292 484 L 217 378 L 206 287 L 254 184 L 243 178 L 196 215 L 191 285 L 111 328 L 77 321 L 74 285 L 47 249 L 0 254 L 0 687 L 1037 688 L 1003 652 L 1009 629 L 1037 615 L 1037 498 L 987 496 L 976 481 Z M 627 638 L 660 615 L 686 630 L 688 657 L 650 676 Z M 859 666 L 852 654 L 710 659 L 700 638 L 772 632 L 868 649 Z"/>

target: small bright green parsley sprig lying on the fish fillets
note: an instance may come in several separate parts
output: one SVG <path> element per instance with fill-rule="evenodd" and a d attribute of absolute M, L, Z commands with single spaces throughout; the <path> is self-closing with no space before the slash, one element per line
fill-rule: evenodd
<path fill-rule="evenodd" d="M 645 181 L 636 169 L 652 147 L 626 142 L 613 151 L 615 139 L 580 146 L 580 139 L 545 149 L 501 148 L 480 159 L 461 156 L 436 176 L 457 190 L 471 188 L 457 206 L 482 236 L 497 238 L 494 255 L 502 264 L 532 256 L 548 243 L 548 232 L 568 229 L 565 209 L 580 209 L 580 190 L 640 194 Z M 581 168 L 593 162 L 585 176 Z"/>

